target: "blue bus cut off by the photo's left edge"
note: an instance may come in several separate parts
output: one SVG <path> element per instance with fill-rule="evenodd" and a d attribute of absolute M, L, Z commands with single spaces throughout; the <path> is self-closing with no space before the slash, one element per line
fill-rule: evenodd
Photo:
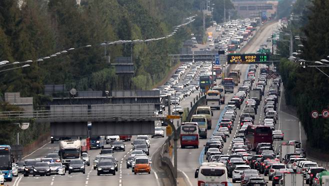
<path fill-rule="evenodd" d="M 12 180 L 11 173 L 11 148 L 9 145 L 1 144 L 0 145 L 0 170 L 3 174 L 3 177 L 7 181 Z"/>

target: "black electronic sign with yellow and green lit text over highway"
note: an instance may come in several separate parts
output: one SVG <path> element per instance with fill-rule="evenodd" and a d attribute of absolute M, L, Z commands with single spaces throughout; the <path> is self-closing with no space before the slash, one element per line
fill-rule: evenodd
<path fill-rule="evenodd" d="M 252 64 L 262 63 L 269 60 L 269 55 L 266 53 L 229 53 L 227 54 L 227 63 L 234 64 Z"/>

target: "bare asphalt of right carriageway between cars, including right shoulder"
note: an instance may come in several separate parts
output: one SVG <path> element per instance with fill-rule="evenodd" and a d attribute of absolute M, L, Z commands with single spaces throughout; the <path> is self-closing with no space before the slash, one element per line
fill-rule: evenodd
<path fill-rule="evenodd" d="M 259 48 L 259 46 L 261 44 L 263 44 L 264 42 L 266 42 L 266 39 L 267 37 L 269 37 L 272 33 L 272 30 L 276 27 L 277 23 L 271 23 L 269 25 L 267 25 L 263 30 L 261 30 L 261 32 L 259 33 L 259 35 L 257 35 L 257 37 L 254 38 L 254 40 L 247 45 L 246 48 L 243 48 L 244 52 L 245 53 L 252 53 L 252 52 L 256 52 L 257 49 Z M 232 68 L 239 68 L 241 70 L 241 80 L 239 83 L 238 86 L 241 86 L 242 85 L 242 82 L 244 80 L 244 78 L 246 77 L 246 72 L 247 72 L 247 69 L 248 69 L 248 65 L 247 64 L 237 64 L 237 65 L 234 65 L 234 66 L 231 66 L 231 69 Z M 258 73 L 259 70 L 257 70 L 257 73 Z M 238 86 L 235 86 L 234 87 L 234 93 L 237 92 L 237 88 Z M 268 86 L 266 86 L 268 88 Z M 264 93 L 264 95 L 266 94 L 267 92 Z M 226 93 L 225 94 L 225 103 L 227 103 L 231 97 L 233 96 L 234 94 L 233 93 Z M 281 92 L 281 96 L 280 96 L 280 101 L 278 103 L 278 108 L 279 109 L 282 109 L 282 108 L 286 108 L 285 106 L 285 103 L 283 102 L 283 93 Z M 282 101 L 283 100 L 283 101 Z M 257 115 L 255 117 L 255 123 L 259 123 L 263 117 L 264 117 L 264 114 L 263 114 L 263 110 L 262 110 L 262 105 L 263 105 L 263 100 L 261 102 L 261 104 L 258 106 L 258 110 L 257 110 Z M 211 134 L 213 133 L 213 131 L 215 130 L 215 124 L 218 123 L 218 120 L 220 120 L 220 117 L 223 115 L 224 113 L 224 106 L 225 105 L 221 105 L 221 108 L 220 110 L 213 110 L 213 116 L 212 116 L 212 129 L 211 130 L 208 130 L 208 138 L 211 136 Z M 230 134 L 230 137 L 227 138 L 227 142 L 224 143 L 224 148 L 223 148 L 223 153 L 228 153 L 230 150 L 230 141 L 233 139 L 234 137 L 234 133 L 237 132 L 237 128 L 239 128 L 238 126 L 238 115 L 241 113 L 241 110 L 243 110 L 242 108 L 245 106 L 245 103 L 243 103 L 241 105 L 241 109 L 240 110 L 237 110 L 237 115 L 236 115 L 236 118 L 235 118 L 235 122 L 234 122 L 234 126 L 233 126 L 233 130 L 232 130 L 232 134 Z M 288 112 L 285 110 L 285 112 Z M 298 122 L 297 122 L 297 119 L 294 118 L 291 119 L 291 116 L 285 112 L 281 112 L 279 113 L 279 121 L 278 121 L 278 124 L 276 124 L 276 127 L 279 127 L 280 129 L 282 129 L 282 131 L 285 133 L 285 134 L 288 134 L 285 136 L 285 139 L 296 139 L 298 140 L 299 137 L 297 137 L 299 135 L 299 131 L 296 130 L 295 128 L 298 128 L 298 127 L 291 127 L 286 123 L 286 120 L 289 120 L 289 124 L 296 124 L 298 125 Z M 291 134 L 292 135 L 291 135 Z M 202 146 L 205 144 L 205 142 L 207 141 L 208 139 L 200 139 L 200 144 L 199 146 Z M 278 144 L 279 142 L 275 141 L 274 142 L 274 147 L 278 147 Z M 194 172 L 195 172 L 195 169 L 199 166 L 200 163 L 202 162 L 207 162 L 207 160 L 205 159 L 205 155 L 204 155 L 204 148 L 197 148 L 197 149 L 194 149 L 194 148 L 179 148 L 178 149 L 178 168 L 179 170 L 183 173 L 183 175 L 186 175 L 185 176 L 185 182 L 187 185 L 196 185 L 197 184 L 197 179 L 194 178 Z M 265 176 L 265 178 L 268 180 L 268 177 Z M 230 178 L 230 183 L 229 185 L 240 185 L 240 183 L 232 183 L 231 182 L 231 178 Z M 271 185 L 271 182 L 269 181 L 268 185 Z"/>

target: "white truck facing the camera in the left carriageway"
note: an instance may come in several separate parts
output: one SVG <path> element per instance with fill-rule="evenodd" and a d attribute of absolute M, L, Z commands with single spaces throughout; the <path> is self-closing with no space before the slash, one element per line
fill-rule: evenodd
<path fill-rule="evenodd" d="M 62 164 L 67 165 L 72 159 L 80 159 L 81 141 L 67 139 L 59 141 L 59 157 Z"/>

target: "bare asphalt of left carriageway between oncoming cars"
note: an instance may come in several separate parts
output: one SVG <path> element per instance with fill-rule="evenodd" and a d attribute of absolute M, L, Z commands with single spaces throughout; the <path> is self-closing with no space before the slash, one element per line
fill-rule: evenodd
<path fill-rule="evenodd" d="M 189 70 L 189 68 L 188 68 Z M 187 70 L 187 71 L 188 71 Z M 186 71 L 186 73 L 187 73 Z M 198 74 L 198 72 L 197 72 Z M 182 75 L 180 80 L 185 76 Z M 191 95 L 184 97 L 180 101 L 180 106 L 182 107 L 190 107 L 190 102 L 193 102 L 193 99 L 199 95 L 198 91 L 192 92 Z M 171 105 L 171 110 L 175 105 Z M 167 115 L 167 107 L 159 116 Z M 175 122 L 175 121 L 174 121 Z M 161 126 L 160 121 L 155 121 L 155 127 Z M 164 127 L 162 127 L 165 129 Z M 149 136 L 150 137 L 150 136 Z M 135 175 L 131 168 L 126 168 L 125 159 L 130 155 L 129 153 L 132 150 L 132 145 L 130 144 L 135 136 L 132 137 L 131 141 L 126 141 L 125 143 L 125 151 L 118 151 L 114 153 L 114 157 L 118 161 L 118 171 L 116 175 L 97 175 L 97 171 L 93 170 L 92 162 L 96 155 L 99 155 L 100 150 L 91 149 L 88 151 L 88 155 L 90 155 L 90 166 L 86 166 L 85 174 L 82 173 L 72 173 L 65 175 L 51 175 L 51 176 L 28 176 L 22 177 L 21 174 L 17 178 L 14 178 L 12 182 L 8 182 L 9 185 L 104 185 L 104 184 L 114 184 L 114 185 L 162 185 L 161 178 L 165 179 L 166 175 L 162 170 L 151 168 L 151 174 L 138 174 Z M 151 138 L 150 143 L 151 146 L 149 148 L 150 155 L 152 157 L 154 152 L 163 144 L 166 139 L 165 132 L 164 137 L 159 138 Z M 24 157 L 24 159 L 34 159 L 44 157 L 47 153 L 53 152 L 54 150 L 58 150 L 59 144 L 48 143 L 37 149 L 32 154 Z M 23 160 L 24 160 L 23 159 Z M 153 158 L 152 158 L 153 159 Z M 152 167 L 152 165 L 151 165 Z M 159 171 L 156 173 L 156 171 Z"/>

